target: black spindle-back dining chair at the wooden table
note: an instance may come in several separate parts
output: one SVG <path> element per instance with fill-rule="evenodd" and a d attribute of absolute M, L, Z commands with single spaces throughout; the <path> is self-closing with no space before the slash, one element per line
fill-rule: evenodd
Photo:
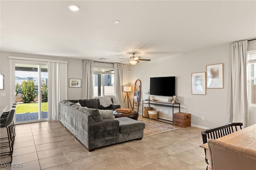
<path fill-rule="evenodd" d="M 203 143 L 207 143 L 208 139 L 218 139 L 228 134 L 231 134 L 233 132 L 236 132 L 238 130 L 241 130 L 242 126 L 243 126 L 243 123 L 228 123 L 225 125 L 220 125 L 218 127 L 213 127 L 213 128 L 203 130 L 201 132 Z M 204 149 L 204 153 L 206 156 L 206 149 Z M 206 157 L 205 157 L 205 162 L 208 164 L 208 160 L 206 159 Z M 206 167 L 206 170 L 207 169 L 208 169 L 208 166 Z"/>

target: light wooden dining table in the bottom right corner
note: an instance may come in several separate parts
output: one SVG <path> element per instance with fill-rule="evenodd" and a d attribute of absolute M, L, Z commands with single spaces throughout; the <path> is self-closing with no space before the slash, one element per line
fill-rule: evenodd
<path fill-rule="evenodd" d="M 232 144 L 243 148 L 256 150 L 256 124 L 243 128 L 241 130 L 238 130 L 234 133 L 228 134 L 216 140 L 220 140 L 227 144 Z M 201 144 L 200 147 L 206 149 L 206 159 L 208 159 L 208 170 L 211 170 L 212 166 L 210 162 L 211 159 L 208 143 Z"/>

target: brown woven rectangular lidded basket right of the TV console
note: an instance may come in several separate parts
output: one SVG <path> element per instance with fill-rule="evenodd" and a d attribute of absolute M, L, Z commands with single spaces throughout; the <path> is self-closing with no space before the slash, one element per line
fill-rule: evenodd
<path fill-rule="evenodd" d="M 173 125 L 176 127 L 190 127 L 191 126 L 191 114 L 190 113 L 174 113 Z"/>

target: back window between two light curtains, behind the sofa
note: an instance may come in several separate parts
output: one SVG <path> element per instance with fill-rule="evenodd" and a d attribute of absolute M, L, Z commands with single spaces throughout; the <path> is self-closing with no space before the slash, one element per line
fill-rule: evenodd
<path fill-rule="evenodd" d="M 93 69 L 94 97 L 114 96 L 114 69 Z"/>

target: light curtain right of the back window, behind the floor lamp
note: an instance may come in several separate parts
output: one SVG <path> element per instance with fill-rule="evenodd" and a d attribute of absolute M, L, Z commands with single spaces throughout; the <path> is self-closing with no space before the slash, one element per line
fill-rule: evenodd
<path fill-rule="evenodd" d="M 123 69 L 121 63 L 114 63 L 116 104 L 124 108 L 123 103 Z"/>

